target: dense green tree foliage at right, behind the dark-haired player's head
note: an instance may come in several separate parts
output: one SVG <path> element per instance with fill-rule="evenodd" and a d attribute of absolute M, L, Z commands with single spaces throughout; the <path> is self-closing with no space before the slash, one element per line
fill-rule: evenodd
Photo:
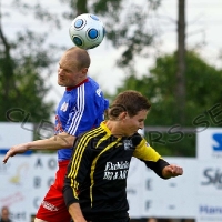
<path fill-rule="evenodd" d="M 151 112 L 145 125 L 165 125 L 167 132 L 147 132 L 155 148 L 161 149 L 163 155 L 195 155 L 195 133 L 183 132 L 181 128 L 222 127 L 222 70 L 208 64 L 193 51 L 186 53 L 186 105 L 185 124 L 176 122 L 174 78 L 176 70 L 176 53 L 157 58 L 155 65 L 149 74 L 138 79 L 134 73 L 125 78 L 123 85 L 118 89 L 139 90 L 147 95 L 151 103 Z"/>

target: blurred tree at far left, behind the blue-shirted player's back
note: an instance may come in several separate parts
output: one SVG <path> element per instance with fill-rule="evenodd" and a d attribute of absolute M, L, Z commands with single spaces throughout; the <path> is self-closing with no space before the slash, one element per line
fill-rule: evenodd
<path fill-rule="evenodd" d="M 34 11 L 50 21 L 40 8 Z M 53 102 L 46 102 L 44 97 L 50 90 L 51 65 L 58 61 L 54 54 L 59 47 L 46 47 L 47 34 L 28 29 L 9 40 L 1 21 L 4 16 L 9 14 L 1 12 L 0 2 L 0 121 L 49 121 Z M 59 26 L 58 21 L 54 23 Z"/>

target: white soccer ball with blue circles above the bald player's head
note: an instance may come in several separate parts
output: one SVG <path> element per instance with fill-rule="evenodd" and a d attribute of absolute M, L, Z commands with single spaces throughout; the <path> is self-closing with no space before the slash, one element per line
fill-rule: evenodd
<path fill-rule="evenodd" d="M 105 34 L 101 20 L 91 13 L 78 16 L 69 28 L 72 42 L 81 49 L 93 49 L 98 47 Z"/>

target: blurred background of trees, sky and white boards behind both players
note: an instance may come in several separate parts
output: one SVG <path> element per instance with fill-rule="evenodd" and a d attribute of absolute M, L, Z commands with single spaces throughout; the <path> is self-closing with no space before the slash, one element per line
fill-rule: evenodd
<path fill-rule="evenodd" d="M 184 174 L 185 182 L 181 176 L 175 185 L 157 181 L 155 175 L 152 179 L 151 172 L 132 163 L 132 169 L 140 169 L 133 176 L 144 175 L 131 180 L 137 184 L 129 182 L 132 219 L 222 221 L 222 205 L 218 201 L 222 168 L 216 162 L 222 158 L 221 9 L 220 0 L 0 0 L 0 157 L 14 143 L 53 133 L 54 110 L 64 90 L 57 84 L 58 62 L 63 51 L 73 46 L 69 27 L 78 14 L 94 13 L 103 21 L 107 36 L 98 48 L 89 50 L 92 60 L 89 74 L 110 101 L 127 89 L 147 95 L 152 109 L 144 137 L 163 157 L 183 164 L 189 172 Z M 38 199 L 41 198 L 50 182 L 38 186 L 39 180 L 43 176 L 42 180 L 51 181 L 49 169 L 56 170 L 56 167 L 36 168 L 33 162 L 41 167 L 44 160 L 48 165 L 54 155 L 27 153 L 18 157 L 18 161 L 11 160 L 17 164 L 0 164 L 0 206 L 7 203 L 11 206 L 13 221 L 29 221 L 27 213 L 34 213 L 36 206 L 27 212 L 18 209 L 37 188 L 41 188 Z M 32 159 L 33 162 L 27 162 Z M 46 175 L 40 169 L 44 169 Z M 18 171 L 32 175 L 26 178 L 22 186 L 10 182 Z M 149 180 L 154 181 L 152 192 L 145 188 Z M 141 184 L 142 191 L 133 190 Z M 29 195 L 21 188 L 28 189 Z M 174 189 L 173 196 L 178 199 L 161 193 L 168 188 Z M 192 192 L 184 192 L 188 189 Z M 148 208 L 151 200 L 144 196 L 157 199 L 151 210 Z M 181 202 L 184 196 L 188 200 Z M 14 199 L 16 205 L 10 201 Z M 164 203 L 170 200 L 174 202 Z"/>

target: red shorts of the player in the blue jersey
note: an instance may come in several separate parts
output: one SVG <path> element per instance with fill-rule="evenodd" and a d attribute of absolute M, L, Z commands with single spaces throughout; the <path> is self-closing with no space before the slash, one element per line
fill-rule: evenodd
<path fill-rule="evenodd" d="M 56 174 L 54 184 L 50 186 L 36 218 L 48 222 L 70 222 L 71 216 L 67 210 L 62 194 L 68 163 L 69 160 L 59 162 L 59 170 Z"/>

